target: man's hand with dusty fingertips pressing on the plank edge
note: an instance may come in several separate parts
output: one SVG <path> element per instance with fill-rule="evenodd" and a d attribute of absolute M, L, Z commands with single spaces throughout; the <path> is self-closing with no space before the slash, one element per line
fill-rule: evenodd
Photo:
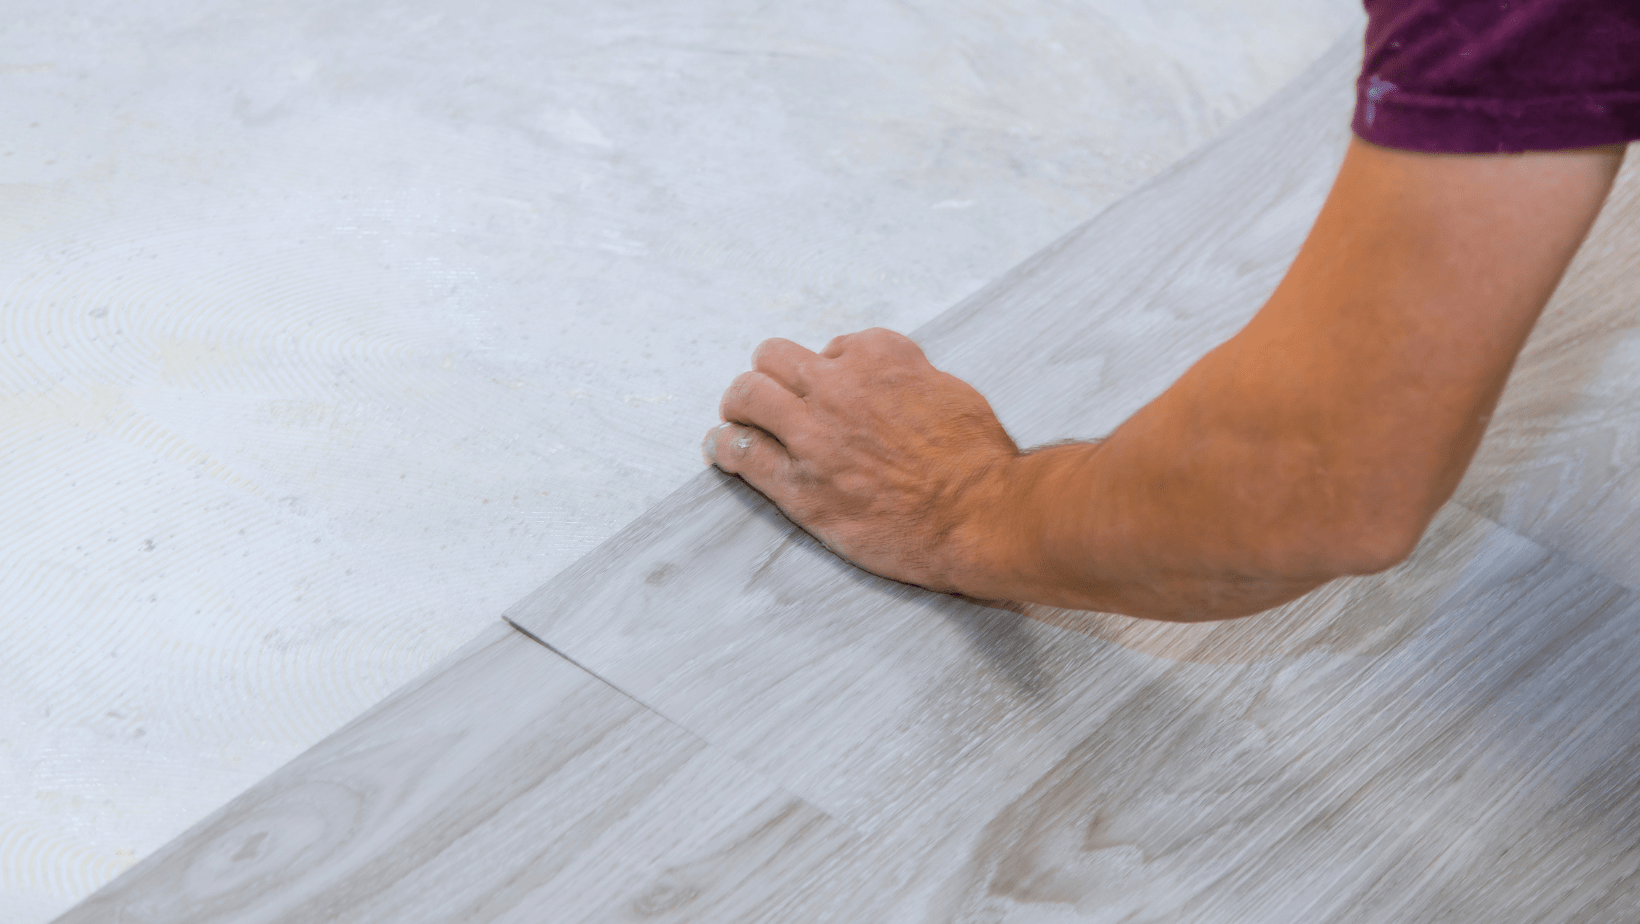
<path fill-rule="evenodd" d="M 1018 446 L 968 382 L 872 328 L 820 353 L 766 340 L 723 394 L 707 463 L 886 578 L 961 592 L 1005 512 Z"/>

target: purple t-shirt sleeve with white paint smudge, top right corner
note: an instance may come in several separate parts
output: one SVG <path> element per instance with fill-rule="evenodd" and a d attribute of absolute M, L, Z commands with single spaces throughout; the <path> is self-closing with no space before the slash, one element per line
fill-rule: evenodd
<path fill-rule="evenodd" d="M 1640 0 L 1363 0 L 1355 133 L 1553 151 L 1640 138 Z"/>

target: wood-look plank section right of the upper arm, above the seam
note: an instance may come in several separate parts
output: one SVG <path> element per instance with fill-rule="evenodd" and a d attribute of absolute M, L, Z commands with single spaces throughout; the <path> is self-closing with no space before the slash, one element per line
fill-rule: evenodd
<path fill-rule="evenodd" d="M 1458 497 L 1640 588 L 1640 149 L 1532 332 Z"/>

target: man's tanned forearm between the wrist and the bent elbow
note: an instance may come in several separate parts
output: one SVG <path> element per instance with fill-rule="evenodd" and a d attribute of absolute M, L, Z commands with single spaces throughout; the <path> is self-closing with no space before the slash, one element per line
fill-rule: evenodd
<path fill-rule="evenodd" d="M 1409 473 L 1381 504 L 1363 504 L 1361 478 L 1301 414 L 1225 381 L 1235 350 L 1222 346 L 1104 441 L 997 466 L 953 550 L 959 592 L 1230 619 L 1399 561 L 1445 497 L 1415 497 L 1428 489 Z"/>

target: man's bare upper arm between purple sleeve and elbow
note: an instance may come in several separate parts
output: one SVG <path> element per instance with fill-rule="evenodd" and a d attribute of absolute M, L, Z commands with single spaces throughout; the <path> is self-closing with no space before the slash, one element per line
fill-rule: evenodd
<path fill-rule="evenodd" d="M 1200 373 L 1315 455 L 1360 561 L 1399 560 L 1456 489 L 1622 148 L 1417 154 L 1355 140 L 1264 309 Z M 1274 417 L 1269 417 L 1274 415 Z"/>

